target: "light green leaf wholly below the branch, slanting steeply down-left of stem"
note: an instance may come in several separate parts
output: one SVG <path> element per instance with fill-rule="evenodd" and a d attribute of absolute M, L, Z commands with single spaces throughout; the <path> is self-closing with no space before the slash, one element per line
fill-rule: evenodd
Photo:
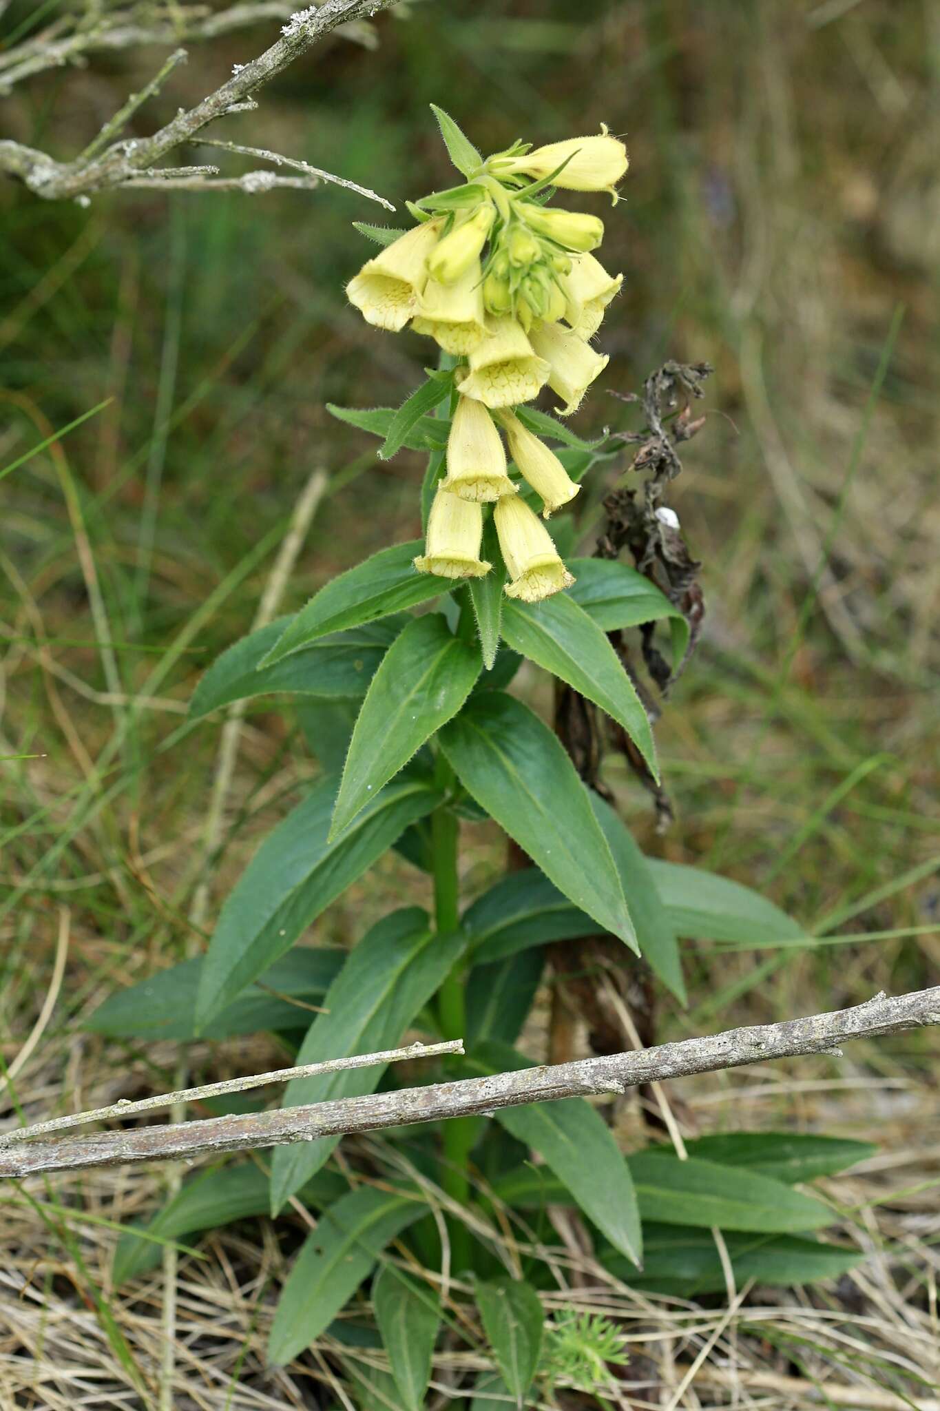
<path fill-rule="evenodd" d="M 283 1285 L 269 1360 L 283 1366 L 309 1348 L 369 1277 L 385 1246 L 426 1211 L 423 1199 L 371 1185 L 323 1211 Z"/>

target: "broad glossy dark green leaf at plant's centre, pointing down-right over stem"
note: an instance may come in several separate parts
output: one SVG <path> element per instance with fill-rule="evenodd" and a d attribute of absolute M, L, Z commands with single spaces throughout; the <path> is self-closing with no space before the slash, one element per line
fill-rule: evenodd
<path fill-rule="evenodd" d="M 502 691 L 472 696 L 440 732 L 466 792 L 555 886 L 637 950 L 620 873 L 575 766 L 548 727 Z"/>

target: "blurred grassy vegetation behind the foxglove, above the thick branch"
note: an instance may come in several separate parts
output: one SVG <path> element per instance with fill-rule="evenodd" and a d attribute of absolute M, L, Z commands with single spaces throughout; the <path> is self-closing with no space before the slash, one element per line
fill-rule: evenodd
<path fill-rule="evenodd" d="M 14 0 L 0 32 L 49 8 Z M 276 34 L 266 23 L 190 45 L 137 130 Z M 839 944 L 700 947 L 691 1009 L 664 1015 L 664 1036 L 936 982 L 940 11 L 406 0 L 375 40 L 317 45 L 218 135 L 303 157 L 400 209 L 452 179 L 430 102 L 483 151 L 606 121 L 631 155 L 624 200 L 585 206 L 605 216 L 605 262 L 626 279 L 578 429 L 636 426 L 606 389 L 638 391 L 665 358 L 716 368 L 674 499 L 707 619 L 658 725 L 672 830 L 657 837 L 641 789 L 612 782 L 647 851 L 765 889 Z M 99 55 L 18 86 L 6 134 L 73 155 L 163 54 Z M 324 408 L 395 405 L 427 357 L 342 299 L 371 250 L 351 222 L 385 219 L 327 186 L 124 192 L 87 209 L 0 186 L 0 468 L 109 399 L 4 480 L 0 516 L 0 753 L 37 756 L 0 765 L 0 1037 L 8 1061 L 68 906 L 66 983 L 31 1078 L 49 1108 L 63 1071 L 78 1103 L 104 1061 L 76 1037 L 82 1015 L 189 944 L 218 724 L 187 727 L 185 703 L 248 631 L 310 471 L 335 487 L 285 608 L 417 533 L 419 457 L 379 463 Z M 214 906 L 296 797 L 297 770 L 310 772 L 299 731 L 252 714 Z M 468 892 L 497 865 L 497 840 L 471 830 Z M 424 900 L 424 886 L 404 865 L 382 871 L 333 909 L 331 938 L 361 934 L 389 893 Z M 870 1060 L 895 1072 L 920 1051 L 903 1037 Z M 172 1046 L 145 1061 L 162 1082 Z M 881 1120 L 846 1109 L 857 1134 Z"/>

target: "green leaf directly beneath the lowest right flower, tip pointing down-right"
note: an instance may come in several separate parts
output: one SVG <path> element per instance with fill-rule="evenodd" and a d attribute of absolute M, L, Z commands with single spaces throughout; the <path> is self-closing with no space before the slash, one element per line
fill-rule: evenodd
<path fill-rule="evenodd" d="M 623 725 L 658 777 L 653 731 L 636 687 L 605 632 L 567 594 L 544 602 L 506 602 L 503 639 Z"/>

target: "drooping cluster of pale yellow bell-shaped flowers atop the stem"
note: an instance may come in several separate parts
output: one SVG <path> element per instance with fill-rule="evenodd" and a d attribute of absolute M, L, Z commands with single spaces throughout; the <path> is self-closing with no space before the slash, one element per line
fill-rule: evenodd
<path fill-rule="evenodd" d="M 620 289 L 592 254 L 603 222 L 544 205 L 550 186 L 610 190 L 627 169 L 606 128 L 496 152 L 462 186 L 409 203 L 417 224 L 350 281 L 362 316 L 393 333 L 410 325 L 457 360 L 447 476 L 431 507 L 421 573 L 479 577 L 483 505 L 495 505 L 506 593 L 536 602 L 572 579 L 548 531 L 509 477 L 500 429 L 547 519 L 579 490 L 561 460 L 513 411 L 547 384 L 562 416 L 579 406 L 607 358 L 589 340 Z"/>

